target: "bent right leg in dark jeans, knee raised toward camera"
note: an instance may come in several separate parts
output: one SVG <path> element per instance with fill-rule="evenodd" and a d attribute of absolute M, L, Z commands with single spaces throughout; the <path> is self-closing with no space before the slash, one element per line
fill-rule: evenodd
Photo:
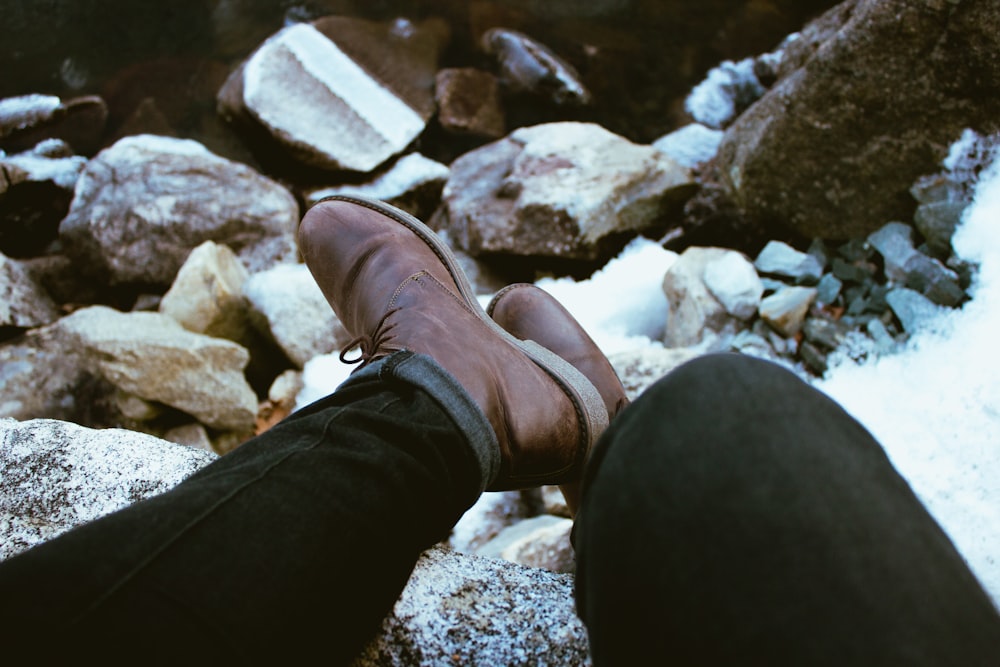
<path fill-rule="evenodd" d="M 577 520 L 595 664 L 995 665 L 1000 617 L 880 445 L 738 355 L 605 433 Z"/>

